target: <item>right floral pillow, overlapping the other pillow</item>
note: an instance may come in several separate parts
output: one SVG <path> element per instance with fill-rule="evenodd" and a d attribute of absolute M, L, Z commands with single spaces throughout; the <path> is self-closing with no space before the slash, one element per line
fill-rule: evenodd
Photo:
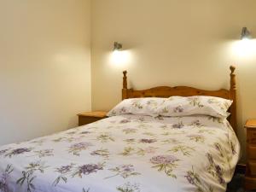
<path fill-rule="evenodd" d="M 232 101 L 215 96 L 171 96 L 157 108 L 162 116 L 205 114 L 227 118 Z"/>

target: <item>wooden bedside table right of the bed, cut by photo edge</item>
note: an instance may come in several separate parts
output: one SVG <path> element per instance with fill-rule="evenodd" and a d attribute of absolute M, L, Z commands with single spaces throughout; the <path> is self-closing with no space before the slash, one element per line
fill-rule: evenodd
<path fill-rule="evenodd" d="M 256 189 L 256 119 L 247 120 L 247 171 L 245 188 Z"/>

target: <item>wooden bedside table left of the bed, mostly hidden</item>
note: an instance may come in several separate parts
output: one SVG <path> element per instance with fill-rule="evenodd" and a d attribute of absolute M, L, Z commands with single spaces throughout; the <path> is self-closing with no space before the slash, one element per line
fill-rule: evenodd
<path fill-rule="evenodd" d="M 107 113 L 105 111 L 94 111 L 94 112 L 84 112 L 79 113 L 79 126 L 93 123 L 97 120 L 107 118 Z"/>

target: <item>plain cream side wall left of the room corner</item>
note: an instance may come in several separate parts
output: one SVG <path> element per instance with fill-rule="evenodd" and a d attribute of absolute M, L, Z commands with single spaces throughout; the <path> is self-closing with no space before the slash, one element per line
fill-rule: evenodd
<path fill-rule="evenodd" d="M 0 144 L 90 110 L 90 0 L 0 1 Z"/>

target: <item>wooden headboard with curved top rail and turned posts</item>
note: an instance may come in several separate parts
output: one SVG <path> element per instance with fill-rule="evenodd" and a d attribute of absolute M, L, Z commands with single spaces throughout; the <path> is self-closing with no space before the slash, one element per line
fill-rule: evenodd
<path fill-rule="evenodd" d="M 124 71 L 122 99 L 137 98 L 137 97 L 169 97 L 169 96 L 218 96 L 233 101 L 230 107 L 230 125 L 234 131 L 237 131 L 236 125 L 236 67 L 230 66 L 230 90 L 200 90 L 188 86 L 160 86 L 153 87 L 148 90 L 133 90 L 127 88 L 127 72 Z"/>

